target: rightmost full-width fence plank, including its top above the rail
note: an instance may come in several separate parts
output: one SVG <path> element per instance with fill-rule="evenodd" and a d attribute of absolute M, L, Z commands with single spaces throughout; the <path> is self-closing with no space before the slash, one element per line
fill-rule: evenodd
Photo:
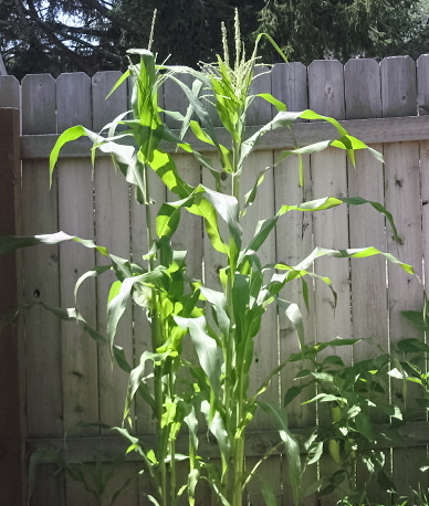
<path fill-rule="evenodd" d="M 416 66 L 408 57 L 388 57 L 381 61 L 383 115 L 405 116 L 416 114 Z M 386 207 L 396 220 L 401 244 L 388 235 L 389 251 L 402 262 L 411 264 L 421 275 L 421 210 L 420 169 L 418 143 L 385 145 Z M 415 276 L 388 265 L 389 338 L 394 346 L 405 337 L 421 338 L 401 315 L 406 309 L 420 309 L 423 304 L 422 286 Z M 405 408 L 400 381 L 393 381 L 391 404 Z M 408 388 L 407 405 L 414 405 L 416 392 Z M 409 493 L 419 476 L 415 463 L 426 454 L 421 449 L 395 449 L 393 471 L 395 484 L 401 494 Z"/>

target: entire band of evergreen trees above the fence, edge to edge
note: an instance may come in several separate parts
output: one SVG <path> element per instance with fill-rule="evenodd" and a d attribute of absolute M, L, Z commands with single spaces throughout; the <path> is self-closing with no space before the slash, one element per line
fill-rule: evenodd
<path fill-rule="evenodd" d="M 269 33 L 291 61 L 427 53 L 427 0 L 2 0 L 0 54 L 8 72 L 25 74 L 124 70 L 129 48 L 147 48 L 154 10 L 158 61 L 198 67 L 222 51 L 221 21 L 243 39 Z M 149 48 L 150 49 L 150 48 Z M 264 62 L 281 61 L 263 44 Z"/>

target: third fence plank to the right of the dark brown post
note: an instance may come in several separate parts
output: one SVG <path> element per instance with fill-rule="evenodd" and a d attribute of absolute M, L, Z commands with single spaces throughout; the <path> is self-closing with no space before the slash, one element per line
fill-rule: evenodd
<path fill-rule="evenodd" d="M 114 94 L 107 94 L 121 77 L 121 72 L 102 72 L 93 77 L 92 104 L 93 128 L 98 131 L 108 122 L 128 108 L 127 86 L 124 84 Z M 119 128 L 121 129 L 121 128 Z M 98 244 L 106 246 L 111 253 L 130 259 L 130 210 L 129 186 L 122 172 L 116 171 L 108 158 L 101 158 L 95 164 L 95 234 Z M 106 259 L 97 255 L 97 265 L 104 265 Z M 107 329 L 107 296 L 112 283 L 116 281 L 113 273 L 105 273 L 97 278 L 97 327 L 106 335 Z M 115 344 L 124 349 L 130 365 L 134 362 L 134 337 L 132 306 L 122 317 L 115 337 Z M 111 426 L 121 426 L 125 397 L 128 384 L 128 375 L 116 363 L 111 363 L 107 346 L 98 345 L 98 384 L 100 384 L 100 421 Z M 132 412 L 134 415 L 134 411 Z M 106 435 L 115 435 L 107 431 Z M 115 472 L 115 478 L 124 482 L 129 475 L 132 464 L 125 464 Z M 137 481 L 130 482 L 126 493 L 137 495 Z M 123 499 L 124 500 L 124 499 Z"/>

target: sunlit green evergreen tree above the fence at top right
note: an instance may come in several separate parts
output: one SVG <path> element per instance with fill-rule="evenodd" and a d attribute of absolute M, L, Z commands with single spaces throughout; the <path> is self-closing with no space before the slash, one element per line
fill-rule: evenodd
<path fill-rule="evenodd" d="M 260 13 L 269 33 L 291 61 L 410 54 L 425 33 L 425 6 L 418 0 L 270 0 Z M 426 17 L 427 18 L 427 17 Z M 428 42 L 419 54 L 429 49 Z M 415 52 L 415 51 L 414 51 Z M 411 54 L 416 56 L 416 54 Z M 278 55 L 266 44 L 264 60 Z"/>

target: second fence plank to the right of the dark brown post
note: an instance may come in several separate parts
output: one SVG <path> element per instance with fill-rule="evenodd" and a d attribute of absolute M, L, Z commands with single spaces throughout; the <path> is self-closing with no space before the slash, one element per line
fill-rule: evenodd
<path fill-rule="evenodd" d="M 86 74 L 61 74 L 56 81 L 57 128 L 63 133 L 74 125 L 92 127 L 91 80 Z M 60 230 L 82 239 L 93 239 L 93 182 L 88 159 L 61 159 L 57 164 Z M 61 305 L 74 307 L 73 287 L 86 271 L 94 267 L 94 250 L 76 243 L 60 246 Z M 82 286 L 77 307 L 84 318 L 95 324 L 95 284 Z M 81 422 L 98 421 L 98 381 L 96 344 L 82 325 L 62 323 L 62 376 L 64 429 L 71 436 L 90 436 L 97 429 L 79 428 Z M 87 467 L 83 467 L 86 472 Z M 66 476 L 67 504 L 85 504 L 87 493 L 82 484 Z"/>

